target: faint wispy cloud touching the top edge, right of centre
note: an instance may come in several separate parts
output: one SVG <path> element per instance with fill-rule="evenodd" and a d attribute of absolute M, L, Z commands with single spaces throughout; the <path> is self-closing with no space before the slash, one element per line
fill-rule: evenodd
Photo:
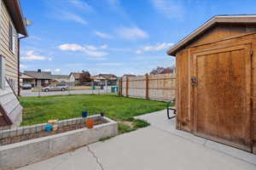
<path fill-rule="evenodd" d="M 183 19 L 184 9 L 180 1 L 151 0 L 154 8 L 169 19 Z"/>

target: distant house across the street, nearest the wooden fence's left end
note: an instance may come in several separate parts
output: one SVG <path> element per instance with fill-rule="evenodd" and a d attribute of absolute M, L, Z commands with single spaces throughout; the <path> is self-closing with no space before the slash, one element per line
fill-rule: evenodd
<path fill-rule="evenodd" d="M 118 77 L 113 74 L 99 74 L 92 77 L 92 79 L 99 84 L 105 84 L 108 81 L 108 85 L 116 85 L 118 82 Z"/>

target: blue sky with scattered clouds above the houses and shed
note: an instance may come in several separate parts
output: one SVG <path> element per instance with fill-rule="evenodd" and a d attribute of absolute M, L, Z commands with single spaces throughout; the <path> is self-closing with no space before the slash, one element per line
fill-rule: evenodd
<path fill-rule="evenodd" d="M 255 14 L 255 0 L 20 0 L 33 25 L 21 70 L 143 75 L 175 65 L 166 49 L 216 14 Z"/>

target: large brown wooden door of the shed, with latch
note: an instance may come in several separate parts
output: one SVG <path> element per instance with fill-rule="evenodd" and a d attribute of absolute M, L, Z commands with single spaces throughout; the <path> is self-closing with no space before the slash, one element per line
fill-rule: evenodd
<path fill-rule="evenodd" d="M 191 83 L 194 133 L 247 151 L 252 151 L 250 50 L 244 44 L 193 54 Z"/>

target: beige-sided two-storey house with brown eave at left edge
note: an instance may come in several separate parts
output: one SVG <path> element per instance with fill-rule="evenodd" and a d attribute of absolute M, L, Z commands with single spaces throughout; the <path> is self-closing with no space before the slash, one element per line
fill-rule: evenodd
<path fill-rule="evenodd" d="M 27 37 L 27 32 L 19 0 L 0 0 L 0 26 L 0 129 L 3 129 L 19 126 L 22 121 L 22 106 L 15 94 L 19 92 L 20 39 Z"/>

